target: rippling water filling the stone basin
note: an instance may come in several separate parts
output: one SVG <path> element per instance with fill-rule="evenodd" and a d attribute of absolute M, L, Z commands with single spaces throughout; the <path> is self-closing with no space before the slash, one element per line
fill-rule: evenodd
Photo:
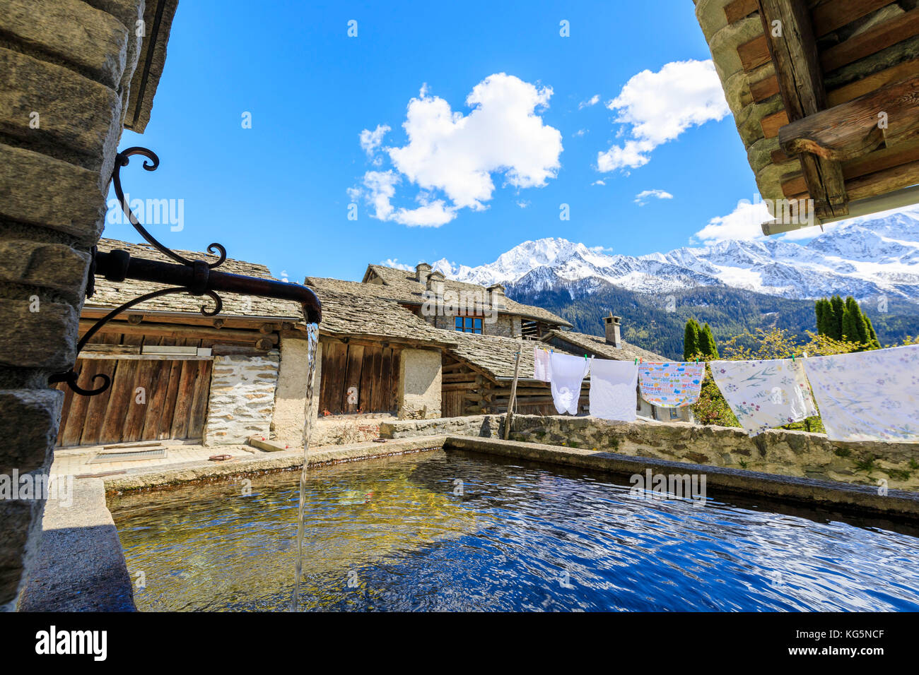
<path fill-rule="evenodd" d="M 112 501 L 132 578 L 142 571 L 146 581 L 135 590 L 140 609 L 289 608 L 297 476 L 245 487 Z M 629 490 L 598 474 L 455 451 L 317 469 L 301 606 L 919 610 L 913 536 Z"/>

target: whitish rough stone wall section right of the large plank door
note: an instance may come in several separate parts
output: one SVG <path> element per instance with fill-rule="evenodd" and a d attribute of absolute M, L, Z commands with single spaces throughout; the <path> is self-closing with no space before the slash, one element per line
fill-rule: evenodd
<path fill-rule="evenodd" d="M 265 356 L 214 356 L 204 444 L 241 444 L 271 430 L 278 388 L 277 351 Z"/>

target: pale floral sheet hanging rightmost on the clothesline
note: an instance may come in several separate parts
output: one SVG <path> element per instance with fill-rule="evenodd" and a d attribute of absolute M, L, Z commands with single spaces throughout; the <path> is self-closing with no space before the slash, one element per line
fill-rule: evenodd
<path fill-rule="evenodd" d="M 919 344 L 804 359 L 834 441 L 919 441 Z"/>

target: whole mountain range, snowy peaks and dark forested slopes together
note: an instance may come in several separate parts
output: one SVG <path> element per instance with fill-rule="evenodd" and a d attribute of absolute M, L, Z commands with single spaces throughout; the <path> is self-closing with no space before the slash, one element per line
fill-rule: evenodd
<path fill-rule="evenodd" d="M 667 358 L 683 351 L 686 320 L 708 322 L 719 343 L 773 326 L 806 340 L 813 300 L 857 298 L 883 344 L 919 334 L 919 211 L 863 219 L 806 244 L 726 241 L 641 256 L 607 254 L 560 237 L 522 242 L 491 264 L 432 264 L 449 278 L 488 286 L 603 334 L 623 318 L 623 337 Z M 764 283 L 765 282 L 765 283 Z"/>

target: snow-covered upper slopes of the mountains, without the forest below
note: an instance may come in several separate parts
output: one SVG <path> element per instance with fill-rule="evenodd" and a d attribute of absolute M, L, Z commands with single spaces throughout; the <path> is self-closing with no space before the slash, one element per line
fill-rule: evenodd
<path fill-rule="evenodd" d="M 783 298 L 838 293 L 857 299 L 885 295 L 919 300 L 919 211 L 849 222 L 805 244 L 764 238 L 634 257 L 550 238 L 523 242 L 494 263 L 478 267 L 446 259 L 433 266 L 459 281 L 533 291 L 594 278 L 654 293 L 721 286 Z"/>

